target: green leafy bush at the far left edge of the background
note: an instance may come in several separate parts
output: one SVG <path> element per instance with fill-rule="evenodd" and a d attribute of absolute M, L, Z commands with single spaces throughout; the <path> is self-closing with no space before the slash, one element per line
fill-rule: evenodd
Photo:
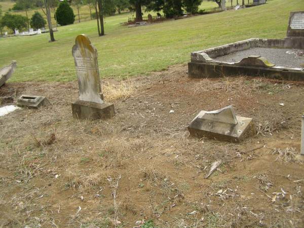
<path fill-rule="evenodd" d="M 1 23 L 14 32 L 15 29 L 21 30 L 26 28 L 27 18 L 19 14 L 6 13 L 1 19 Z"/>

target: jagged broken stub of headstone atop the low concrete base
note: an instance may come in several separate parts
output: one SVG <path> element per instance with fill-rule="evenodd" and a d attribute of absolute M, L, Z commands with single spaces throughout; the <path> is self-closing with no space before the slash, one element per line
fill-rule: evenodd
<path fill-rule="evenodd" d="M 238 123 L 232 105 L 214 111 L 206 111 L 201 119 L 236 125 Z"/>

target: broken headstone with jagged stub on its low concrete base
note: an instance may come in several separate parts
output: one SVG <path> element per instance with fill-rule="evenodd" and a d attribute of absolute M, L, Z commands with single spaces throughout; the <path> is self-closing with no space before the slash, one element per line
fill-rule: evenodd
<path fill-rule="evenodd" d="M 231 105 L 215 111 L 200 111 L 188 130 L 196 137 L 232 142 L 240 142 L 255 134 L 252 119 L 236 116 Z"/>

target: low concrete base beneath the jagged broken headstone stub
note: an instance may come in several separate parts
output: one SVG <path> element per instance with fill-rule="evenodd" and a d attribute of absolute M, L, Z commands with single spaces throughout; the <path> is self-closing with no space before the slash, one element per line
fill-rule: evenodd
<path fill-rule="evenodd" d="M 238 123 L 234 125 L 200 118 L 205 112 L 207 111 L 201 111 L 189 124 L 188 131 L 191 135 L 230 142 L 241 142 L 255 135 L 251 118 L 236 116 Z"/>

